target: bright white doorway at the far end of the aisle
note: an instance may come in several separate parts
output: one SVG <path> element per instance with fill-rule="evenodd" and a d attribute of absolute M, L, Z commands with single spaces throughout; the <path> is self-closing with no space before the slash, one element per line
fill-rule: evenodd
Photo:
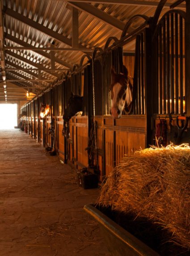
<path fill-rule="evenodd" d="M 0 129 L 14 129 L 17 126 L 17 104 L 0 104 Z"/>

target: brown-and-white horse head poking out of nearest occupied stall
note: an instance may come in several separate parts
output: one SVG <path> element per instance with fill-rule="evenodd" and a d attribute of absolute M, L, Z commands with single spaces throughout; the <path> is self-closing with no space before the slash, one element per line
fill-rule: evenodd
<path fill-rule="evenodd" d="M 132 104 L 132 78 L 128 76 L 128 70 L 123 65 L 122 73 L 117 74 L 114 67 L 111 68 L 111 115 L 113 118 L 121 118 L 122 110 Z"/>

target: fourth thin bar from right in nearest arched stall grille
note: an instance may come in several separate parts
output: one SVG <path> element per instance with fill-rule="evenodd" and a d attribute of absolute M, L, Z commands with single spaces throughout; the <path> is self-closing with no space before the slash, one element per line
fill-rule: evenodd
<path fill-rule="evenodd" d="M 166 18 L 166 113 L 170 113 L 170 37 L 169 14 Z"/>

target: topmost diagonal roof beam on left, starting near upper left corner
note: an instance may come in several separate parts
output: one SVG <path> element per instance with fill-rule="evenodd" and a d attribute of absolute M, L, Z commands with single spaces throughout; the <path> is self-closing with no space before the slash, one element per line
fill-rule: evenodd
<path fill-rule="evenodd" d="M 31 26 L 33 27 L 34 29 L 37 29 L 38 31 L 41 31 L 42 33 L 46 34 L 46 35 L 49 35 L 51 36 L 52 38 L 55 38 L 56 40 L 64 43 L 64 44 L 67 44 L 69 46 L 72 46 L 72 40 L 69 39 L 68 37 L 64 36 L 64 35 L 61 35 L 51 29 L 49 29 L 48 27 L 46 26 L 43 26 L 41 25 L 40 23 L 38 22 L 35 22 L 33 21 L 32 19 L 30 18 L 27 18 L 25 17 L 24 15 L 20 14 L 20 13 L 17 13 L 16 11 L 13 11 L 12 9 L 10 8 L 5 8 L 4 7 L 4 13 L 27 24 L 28 26 Z M 80 47 L 85 51 L 85 47 L 83 45 L 80 44 Z"/>

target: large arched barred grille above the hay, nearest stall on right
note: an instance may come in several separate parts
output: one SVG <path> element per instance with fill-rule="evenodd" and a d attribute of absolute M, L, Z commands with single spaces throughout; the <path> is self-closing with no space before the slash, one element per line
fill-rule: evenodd
<path fill-rule="evenodd" d="M 165 14 L 154 35 L 156 81 L 158 93 L 156 113 L 186 112 L 185 89 L 185 15 L 173 10 Z"/>

